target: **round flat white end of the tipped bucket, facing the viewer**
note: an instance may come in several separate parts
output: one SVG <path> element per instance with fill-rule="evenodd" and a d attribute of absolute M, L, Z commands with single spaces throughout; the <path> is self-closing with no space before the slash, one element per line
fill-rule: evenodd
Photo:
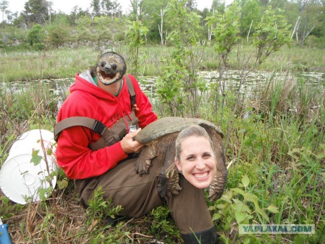
<path fill-rule="evenodd" d="M 31 154 L 12 157 L 0 170 L 0 188 L 6 197 L 16 203 L 26 204 L 26 197 L 32 201 L 39 201 L 38 189 L 46 189 L 50 186 L 49 182 L 45 180 L 45 177 L 49 175 L 45 160 L 42 159 L 41 163 L 35 166 L 34 163 L 30 163 L 31 157 Z M 56 172 L 55 159 L 52 160 L 51 157 L 47 159 L 50 173 Z M 51 182 L 54 188 L 56 176 Z"/>

